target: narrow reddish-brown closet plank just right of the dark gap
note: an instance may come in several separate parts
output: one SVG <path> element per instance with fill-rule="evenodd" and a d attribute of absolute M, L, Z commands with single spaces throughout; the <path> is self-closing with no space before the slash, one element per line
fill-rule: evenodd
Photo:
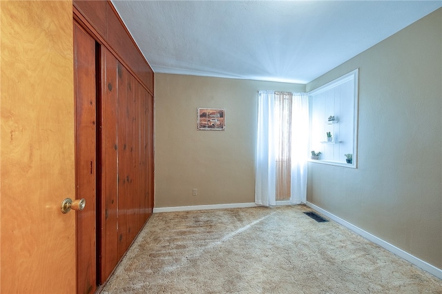
<path fill-rule="evenodd" d="M 117 59 L 102 47 L 101 101 L 101 282 L 118 263 L 117 251 Z"/>

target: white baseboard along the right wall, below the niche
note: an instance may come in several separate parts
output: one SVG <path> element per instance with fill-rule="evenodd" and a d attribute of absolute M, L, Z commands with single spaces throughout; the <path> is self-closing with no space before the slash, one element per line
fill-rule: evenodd
<path fill-rule="evenodd" d="M 338 224 L 342 224 L 343 226 L 345 226 L 346 228 L 349 228 L 350 230 L 354 231 L 358 235 L 365 237 L 365 239 L 368 239 L 369 241 L 371 241 L 375 244 L 378 244 L 379 246 L 387 249 L 387 251 L 390 251 L 391 253 L 394 253 L 395 255 L 402 257 L 403 259 L 407 260 L 408 262 L 411 262 L 412 264 L 423 269 L 424 271 L 427 271 L 428 273 L 431 273 L 432 275 L 439 277 L 439 279 L 442 280 L 442 269 L 441 268 L 436 268 L 436 266 L 432 266 L 431 264 L 424 262 L 422 259 L 419 259 L 419 258 L 415 257 L 414 255 L 411 255 L 410 253 L 403 251 L 401 248 L 398 248 L 388 242 L 385 242 L 383 239 L 380 239 L 380 238 L 376 237 L 375 235 L 372 235 L 372 234 L 364 231 L 363 229 L 358 228 L 357 226 L 354 226 L 353 224 L 350 224 L 349 222 L 345 221 L 344 219 L 341 219 L 340 217 L 337 217 L 336 215 L 329 213 L 327 210 L 323 210 L 323 208 L 320 208 L 314 204 L 311 204 L 310 202 L 307 202 L 307 206 L 318 211 L 318 213 L 322 213 L 323 215 L 329 217 L 330 219 L 333 219 Z"/>

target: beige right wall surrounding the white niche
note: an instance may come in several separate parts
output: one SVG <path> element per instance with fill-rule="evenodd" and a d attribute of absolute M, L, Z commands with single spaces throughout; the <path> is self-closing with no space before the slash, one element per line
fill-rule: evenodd
<path fill-rule="evenodd" d="M 358 169 L 310 163 L 307 200 L 442 268 L 442 9 L 307 90 L 355 68 Z"/>

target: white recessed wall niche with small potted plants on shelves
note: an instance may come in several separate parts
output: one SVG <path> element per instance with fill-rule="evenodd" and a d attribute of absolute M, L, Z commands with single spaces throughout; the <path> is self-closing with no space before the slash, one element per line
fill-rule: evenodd
<path fill-rule="evenodd" d="M 358 69 L 309 92 L 311 162 L 356 168 Z"/>

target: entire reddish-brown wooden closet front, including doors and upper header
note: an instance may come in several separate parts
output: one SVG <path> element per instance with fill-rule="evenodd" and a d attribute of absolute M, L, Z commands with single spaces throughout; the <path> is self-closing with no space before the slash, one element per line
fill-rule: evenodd
<path fill-rule="evenodd" d="M 88 224 L 86 235 L 81 233 L 78 237 L 77 273 L 78 292 L 88 293 L 95 285 L 106 282 L 152 214 L 153 71 L 111 2 L 75 0 L 73 12 L 78 21 L 76 58 L 84 63 L 84 68 L 78 68 L 80 63 L 75 65 L 79 113 L 76 171 L 78 182 L 87 183 L 80 185 L 87 188 L 78 197 L 89 195 L 86 208 L 94 208 L 85 218 L 77 219 L 79 231 Z M 93 95 L 94 99 L 83 100 Z M 94 119 L 97 124 L 91 126 Z M 84 144 L 84 138 L 90 138 L 86 139 L 89 144 Z M 81 175 L 85 170 L 89 174 Z M 89 213 L 95 213 L 97 218 Z M 98 251 L 95 255 L 89 249 L 80 252 L 81 246 L 95 246 Z"/>

